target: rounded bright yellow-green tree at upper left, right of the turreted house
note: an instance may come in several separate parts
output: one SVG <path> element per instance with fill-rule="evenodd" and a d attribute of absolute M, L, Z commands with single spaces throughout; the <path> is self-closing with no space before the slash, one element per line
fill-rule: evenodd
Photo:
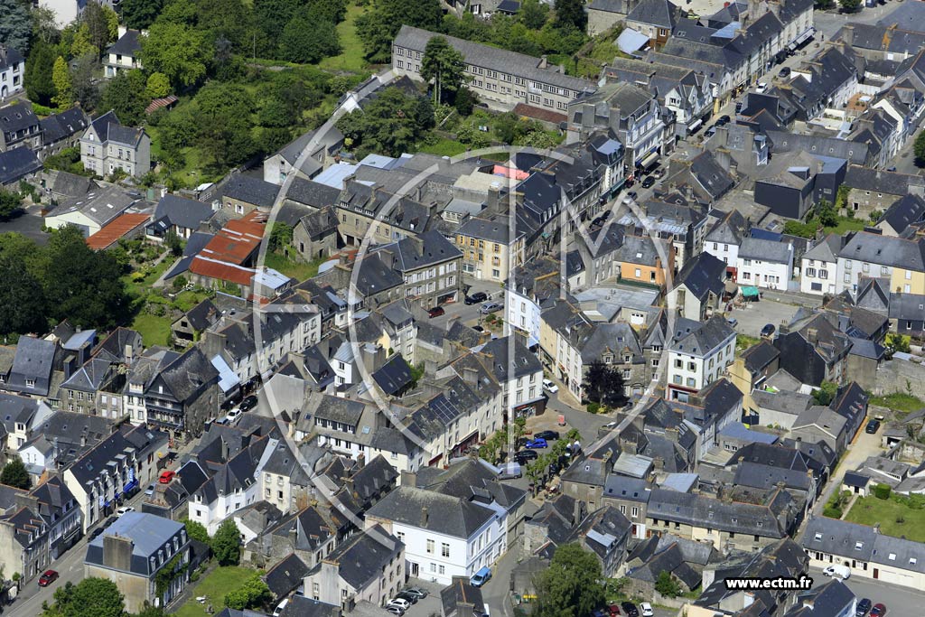
<path fill-rule="evenodd" d="M 145 70 L 163 73 L 176 87 L 191 86 L 205 77 L 205 66 L 214 47 L 203 31 L 179 23 L 156 21 L 142 39 L 141 60 Z"/>

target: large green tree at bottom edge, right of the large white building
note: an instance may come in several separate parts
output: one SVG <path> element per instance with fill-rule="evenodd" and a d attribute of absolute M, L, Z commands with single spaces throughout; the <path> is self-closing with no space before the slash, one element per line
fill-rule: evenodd
<path fill-rule="evenodd" d="M 577 544 L 556 549 L 536 576 L 536 617 L 584 617 L 604 601 L 598 558 Z"/>

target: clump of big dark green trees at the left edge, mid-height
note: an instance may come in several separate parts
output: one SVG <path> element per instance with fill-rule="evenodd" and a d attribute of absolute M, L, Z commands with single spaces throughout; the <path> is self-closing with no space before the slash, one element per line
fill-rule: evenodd
<path fill-rule="evenodd" d="M 96 253 L 73 227 L 46 246 L 18 233 L 0 235 L 0 336 L 45 332 L 64 319 L 80 327 L 125 323 L 132 298 L 121 280 L 127 264 Z"/>

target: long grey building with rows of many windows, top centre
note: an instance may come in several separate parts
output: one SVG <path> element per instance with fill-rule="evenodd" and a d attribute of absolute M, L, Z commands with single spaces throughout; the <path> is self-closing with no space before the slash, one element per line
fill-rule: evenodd
<path fill-rule="evenodd" d="M 420 80 L 425 47 L 434 36 L 444 35 L 401 26 L 392 43 L 392 69 Z M 549 67 L 545 56 L 536 58 L 452 36 L 444 38 L 465 58 L 468 86 L 488 105 L 513 109 L 524 104 L 564 116 L 570 101 L 597 90 L 593 81 L 566 75 L 557 66 Z"/>

